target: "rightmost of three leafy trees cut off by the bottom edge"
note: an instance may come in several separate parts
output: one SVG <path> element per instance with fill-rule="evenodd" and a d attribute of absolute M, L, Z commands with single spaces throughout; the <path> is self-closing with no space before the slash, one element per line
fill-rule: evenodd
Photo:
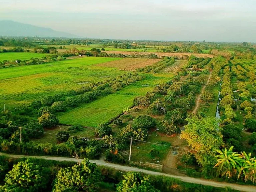
<path fill-rule="evenodd" d="M 160 192 L 151 185 L 150 176 L 142 176 L 135 172 L 124 175 L 124 180 L 118 183 L 116 190 L 117 192 Z"/>

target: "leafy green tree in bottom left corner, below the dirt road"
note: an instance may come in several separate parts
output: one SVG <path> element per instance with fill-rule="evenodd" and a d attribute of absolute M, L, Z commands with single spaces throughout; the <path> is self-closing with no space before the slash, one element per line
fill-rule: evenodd
<path fill-rule="evenodd" d="M 18 162 L 5 176 L 4 191 L 37 192 L 47 187 L 47 173 L 30 160 Z"/>

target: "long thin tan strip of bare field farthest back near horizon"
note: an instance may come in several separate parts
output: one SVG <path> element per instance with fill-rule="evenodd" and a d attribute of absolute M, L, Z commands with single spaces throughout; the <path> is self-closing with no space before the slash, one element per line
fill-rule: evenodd
<path fill-rule="evenodd" d="M 161 53 L 161 52 L 132 52 L 132 51 L 102 51 L 102 52 L 106 52 L 107 54 L 111 54 L 111 53 L 115 53 L 115 54 L 123 54 L 123 55 L 152 55 L 155 54 L 157 55 L 159 58 L 163 57 L 163 56 L 169 56 L 169 57 L 178 57 L 179 59 L 183 59 L 184 56 L 191 56 L 194 55 L 196 57 L 209 57 L 209 58 L 213 58 L 214 55 L 210 55 L 210 54 L 201 54 L 201 53 Z"/>

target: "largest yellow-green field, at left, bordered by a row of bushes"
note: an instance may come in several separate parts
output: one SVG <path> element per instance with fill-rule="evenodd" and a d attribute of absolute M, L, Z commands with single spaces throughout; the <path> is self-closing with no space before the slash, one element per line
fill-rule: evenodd
<path fill-rule="evenodd" d="M 92 65 L 119 59 L 85 57 L 0 69 L 0 99 L 31 101 L 116 76 L 122 72 Z"/>

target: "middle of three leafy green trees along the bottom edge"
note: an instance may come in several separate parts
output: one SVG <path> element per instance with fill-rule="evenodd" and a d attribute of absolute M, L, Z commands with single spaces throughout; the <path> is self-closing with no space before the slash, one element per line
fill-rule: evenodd
<path fill-rule="evenodd" d="M 80 165 L 61 169 L 54 181 L 53 192 L 95 191 L 102 181 L 95 163 L 84 159 Z"/>

